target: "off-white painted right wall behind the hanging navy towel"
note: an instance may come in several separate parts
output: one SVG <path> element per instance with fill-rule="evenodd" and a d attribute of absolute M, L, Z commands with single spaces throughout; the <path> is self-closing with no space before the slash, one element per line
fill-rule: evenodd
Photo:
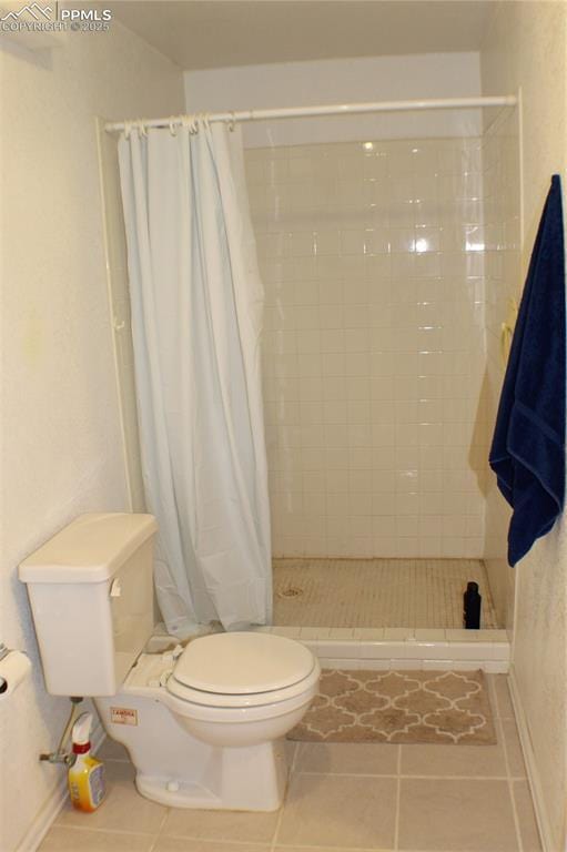
<path fill-rule="evenodd" d="M 523 90 L 523 274 L 549 179 L 566 194 L 567 6 L 495 4 L 482 52 L 483 94 Z M 504 320 L 505 317 L 502 317 Z M 513 678 L 529 733 L 531 781 L 551 852 L 565 849 L 567 750 L 567 523 L 565 517 L 516 568 Z"/>

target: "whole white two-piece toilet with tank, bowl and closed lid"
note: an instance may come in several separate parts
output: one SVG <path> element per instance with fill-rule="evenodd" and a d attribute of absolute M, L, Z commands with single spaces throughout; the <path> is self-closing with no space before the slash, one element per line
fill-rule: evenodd
<path fill-rule="evenodd" d="M 275 810 L 283 738 L 317 692 L 318 661 L 300 642 L 252 631 L 144 653 L 156 529 L 151 515 L 82 515 L 21 562 L 47 689 L 94 699 L 149 799 Z"/>

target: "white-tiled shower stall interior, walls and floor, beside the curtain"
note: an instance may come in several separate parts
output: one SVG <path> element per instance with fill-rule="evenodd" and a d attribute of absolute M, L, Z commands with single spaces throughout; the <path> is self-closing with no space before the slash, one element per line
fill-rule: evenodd
<path fill-rule="evenodd" d="M 266 629 L 450 640 L 470 580 L 487 641 L 510 627 L 508 518 L 487 459 L 518 292 L 518 115 L 514 98 L 465 101 L 382 104 L 474 108 L 459 132 L 396 136 L 361 124 L 356 140 L 267 144 L 266 134 L 244 150 L 265 290 Z M 341 109 L 371 106 L 381 104 Z M 212 119 L 318 114 L 264 112 Z M 107 230 L 126 467 L 141 509 L 124 253 Z"/>

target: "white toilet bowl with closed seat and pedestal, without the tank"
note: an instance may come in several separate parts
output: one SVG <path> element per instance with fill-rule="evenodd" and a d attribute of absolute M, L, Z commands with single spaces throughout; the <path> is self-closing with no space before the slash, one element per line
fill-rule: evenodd
<path fill-rule="evenodd" d="M 215 633 L 176 659 L 141 655 L 119 693 L 94 702 L 129 750 L 143 795 L 178 808 L 270 811 L 285 791 L 282 738 L 303 718 L 320 673 L 291 639 Z"/>

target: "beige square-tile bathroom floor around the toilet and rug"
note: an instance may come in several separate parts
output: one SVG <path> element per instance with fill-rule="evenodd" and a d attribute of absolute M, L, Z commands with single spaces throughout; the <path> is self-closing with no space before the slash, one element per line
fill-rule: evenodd
<path fill-rule="evenodd" d="M 162 808 L 107 741 L 107 802 L 65 807 L 40 852 L 540 852 L 506 678 L 487 680 L 496 746 L 288 743 L 276 813 Z"/>

